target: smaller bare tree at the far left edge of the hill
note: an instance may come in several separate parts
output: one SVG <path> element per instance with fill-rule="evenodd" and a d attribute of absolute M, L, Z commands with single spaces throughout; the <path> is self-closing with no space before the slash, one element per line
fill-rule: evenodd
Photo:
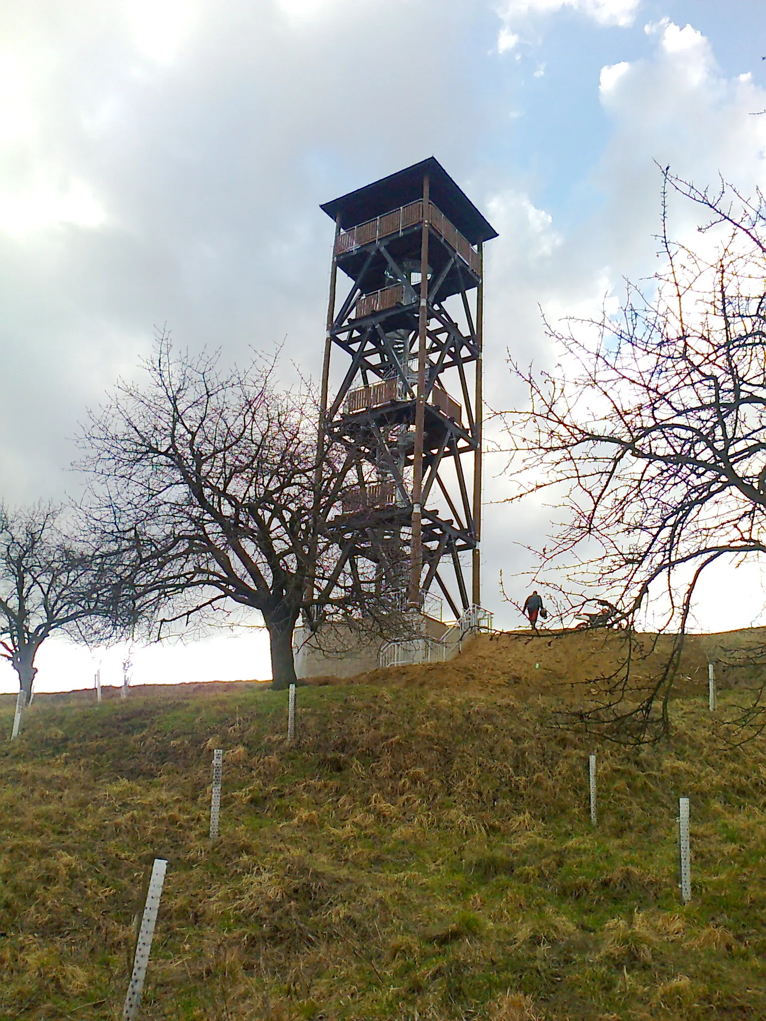
<path fill-rule="evenodd" d="M 63 518 L 52 504 L 0 504 L 0 655 L 15 670 L 25 703 L 46 638 L 58 631 L 103 639 L 119 620 L 113 561 L 70 538 Z"/>

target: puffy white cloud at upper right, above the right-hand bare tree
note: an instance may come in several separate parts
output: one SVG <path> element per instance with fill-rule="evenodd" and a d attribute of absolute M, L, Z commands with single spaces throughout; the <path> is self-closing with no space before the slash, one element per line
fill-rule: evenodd
<path fill-rule="evenodd" d="M 603 205 L 586 244 L 617 283 L 658 268 L 659 166 L 700 186 L 715 187 L 720 172 L 745 194 L 766 185 L 766 124 L 751 115 L 766 107 L 764 91 L 751 76 L 723 76 L 709 40 L 692 27 L 665 18 L 649 29 L 657 37 L 650 57 L 607 65 L 600 75 L 611 137 L 591 171 Z M 697 232 L 700 210 L 672 193 L 670 213 L 679 240 L 715 243 L 713 234 Z"/>

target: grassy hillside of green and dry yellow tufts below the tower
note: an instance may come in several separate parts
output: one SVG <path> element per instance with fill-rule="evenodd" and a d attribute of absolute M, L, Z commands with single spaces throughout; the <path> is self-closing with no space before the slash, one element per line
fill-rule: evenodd
<path fill-rule="evenodd" d="M 294 746 L 255 684 L 39 698 L 0 744 L 0 1018 L 118 1017 L 155 855 L 147 1021 L 766 1017 L 764 741 L 718 750 L 689 683 L 672 746 L 597 749 L 593 831 L 546 640 L 302 688 Z"/>

